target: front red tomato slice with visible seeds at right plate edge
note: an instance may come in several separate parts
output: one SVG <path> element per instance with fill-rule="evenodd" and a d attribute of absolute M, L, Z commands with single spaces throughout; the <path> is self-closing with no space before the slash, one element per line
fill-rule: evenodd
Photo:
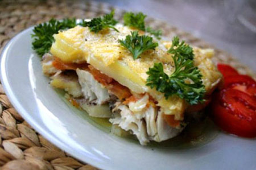
<path fill-rule="evenodd" d="M 247 138 L 256 137 L 256 101 L 236 89 L 214 93 L 210 117 L 222 130 Z"/>

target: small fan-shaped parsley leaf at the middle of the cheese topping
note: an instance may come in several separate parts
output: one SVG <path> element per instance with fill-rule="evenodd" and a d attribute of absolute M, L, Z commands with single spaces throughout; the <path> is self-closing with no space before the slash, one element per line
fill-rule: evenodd
<path fill-rule="evenodd" d="M 153 42 L 151 36 L 139 36 L 138 31 L 131 32 L 131 35 L 127 35 L 125 40 L 119 40 L 119 43 L 133 54 L 134 60 L 138 59 L 144 51 L 155 49 L 158 46 L 158 43 Z"/>

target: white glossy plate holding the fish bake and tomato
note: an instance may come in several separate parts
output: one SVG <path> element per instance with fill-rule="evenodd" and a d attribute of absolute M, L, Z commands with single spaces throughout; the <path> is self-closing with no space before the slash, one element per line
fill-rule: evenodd
<path fill-rule="evenodd" d="M 31 49 L 32 28 L 16 35 L 1 57 L 1 81 L 11 103 L 50 142 L 103 169 L 255 169 L 256 140 L 220 132 L 193 148 L 140 146 L 102 130 L 49 86 Z"/>

